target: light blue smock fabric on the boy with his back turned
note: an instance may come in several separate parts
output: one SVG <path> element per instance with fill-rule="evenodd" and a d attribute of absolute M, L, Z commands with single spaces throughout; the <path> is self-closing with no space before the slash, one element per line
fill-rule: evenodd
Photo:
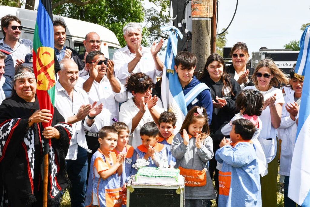
<path fill-rule="evenodd" d="M 215 152 L 215 160 L 223 163 L 223 173 L 231 173 L 229 195 L 219 194 L 219 207 L 262 206 L 259 169 L 253 144 L 238 142 L 234 147 L 223 146 Z"/>

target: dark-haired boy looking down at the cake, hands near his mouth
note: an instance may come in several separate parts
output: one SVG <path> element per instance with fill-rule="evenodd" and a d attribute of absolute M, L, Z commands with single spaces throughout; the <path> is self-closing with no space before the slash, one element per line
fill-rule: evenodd
<path fill-rule="evenodd" d="M 170 150 L 163 144 L 158 143 L 158 127 L 154 122 L 147 122 L 140 130 L 142 145 L 139 145 L 134 151 L 133 157 L 137 159 L 144 158 L 149 161 L 148 167 L 159 167 L 159 160 L 167 160 L 168 164 L 173 161 Z M 135 164 L 135 162 L 133 162 Z M 132 169 L 132 174 L 137 172 Z"/>

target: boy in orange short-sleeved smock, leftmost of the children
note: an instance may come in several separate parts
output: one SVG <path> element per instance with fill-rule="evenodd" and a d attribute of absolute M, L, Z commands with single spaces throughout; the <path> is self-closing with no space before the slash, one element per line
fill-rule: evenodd
<path fill-rule="evenodd" d="M 91 157 L 91 168 L 85 198 L 85 206 L 122 205 L 122 188 L 119 176 L 122 174 L 125 156 L 114 152 L 118 132 L 114 127 L 105 126 L 99 131 L 100 148 Z"/>

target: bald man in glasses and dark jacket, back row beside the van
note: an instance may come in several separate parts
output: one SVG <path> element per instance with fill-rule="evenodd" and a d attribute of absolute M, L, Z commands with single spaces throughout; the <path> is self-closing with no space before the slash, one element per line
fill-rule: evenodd
<path fill-rule="evenodd" d="M 88 74 L 88 68 L 85 67 L 85 58 L 87 54 L 92 51 L 100 51 L 101 40 L 99 34 L 90 32 L 86 34 L 85 40 L 83 41 L 85 52 L 83 54 L 73 56 L 72 60 L 78 65 L 79 76 L 86 76 Z M 84 69 L 85 68 L 85 69 Z"/>

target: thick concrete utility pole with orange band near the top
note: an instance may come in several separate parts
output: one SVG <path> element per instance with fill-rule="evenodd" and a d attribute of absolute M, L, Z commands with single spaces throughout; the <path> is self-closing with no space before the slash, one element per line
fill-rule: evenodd
<path fill-rule="evenodd" d="M 192 53 L 198 59 L 198 74 L 204 70 L 210 55 L 212 11 L 213 0 L 192 0 Z"/>

